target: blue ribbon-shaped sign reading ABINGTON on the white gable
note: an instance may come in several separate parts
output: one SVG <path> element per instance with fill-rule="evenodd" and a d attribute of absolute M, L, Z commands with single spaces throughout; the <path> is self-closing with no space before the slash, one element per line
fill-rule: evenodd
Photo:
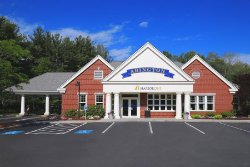
<path fill-rule="evenodd" d="M 168 69 L 155 68 L 155 67 L 140 67 L 140 68 L 128 69 L 127 72 L 122 74 L 122 77 L 127 78 L 127 77 L 131 77 L 131 75 L 134 73 L 142 73 L 142 72 L 161 73 L 161 74 L 164 74 L 165 77 L 174 78 L 174 74 L 169 72 Z"/>

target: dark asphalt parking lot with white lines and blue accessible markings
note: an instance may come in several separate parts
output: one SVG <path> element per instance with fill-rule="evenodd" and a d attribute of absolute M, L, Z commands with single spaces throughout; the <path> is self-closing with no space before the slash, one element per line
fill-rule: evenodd
<path fill-rule="evenodd" d="M 249 167 L 250 123 L 36 124 L 1 129 L 0 150 L 3 167 Z"/>

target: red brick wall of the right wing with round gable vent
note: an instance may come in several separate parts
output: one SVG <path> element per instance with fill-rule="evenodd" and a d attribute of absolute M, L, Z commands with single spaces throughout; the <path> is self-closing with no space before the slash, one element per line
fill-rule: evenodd
<path fill-rule="evenodd" d="M 227 86 L 221 79 L 214 75 L 208 68 L 206 68 L 198 60 L 184 69 L 184 71 L 191 76 L 193 71 L 199 71 L 201 76 L 195 80 L 194 93 L 216 93 L 215 95 L 215 111 L 223 112 L 233 109 L 232 100 L 233 94 L 229 92 Z M 191 112 L 198 113 L 198 112 Z M 200 112 L 201 113 L 201 112 Z"/>

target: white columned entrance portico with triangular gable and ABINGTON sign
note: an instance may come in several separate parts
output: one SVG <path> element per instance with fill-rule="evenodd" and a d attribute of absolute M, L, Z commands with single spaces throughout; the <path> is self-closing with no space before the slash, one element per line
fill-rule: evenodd
<path fill-rule="evenodd" d="M 115 118 L 138 118 L 143 110 L 150 108 L 152 113 L 175 112 L 175 118 L 181 119 L 182 95 L 184 112 L 190 111 L 189 94 L 193 92 L 194 80 L 150 43 L 142 46 L 102 83 L 106 115 L 112 111 L 113 94 Z M 124 97 L 127 94 L 138 97 Z M 141 94 L 144 96 L 140 97 Z"/>

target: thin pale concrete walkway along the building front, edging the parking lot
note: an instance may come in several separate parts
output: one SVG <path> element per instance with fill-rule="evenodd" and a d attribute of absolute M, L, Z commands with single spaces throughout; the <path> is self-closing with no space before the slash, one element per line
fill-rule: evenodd
<path fill-rule="evenodd" d="M 84 122 L 231 122 L 250 123 L 249 120 L 225 120 L 225 119 L 174 119 L 174 118 L 122 118 L 100 120 L 60 120 L 51 123 L 84 123 Z"/>

